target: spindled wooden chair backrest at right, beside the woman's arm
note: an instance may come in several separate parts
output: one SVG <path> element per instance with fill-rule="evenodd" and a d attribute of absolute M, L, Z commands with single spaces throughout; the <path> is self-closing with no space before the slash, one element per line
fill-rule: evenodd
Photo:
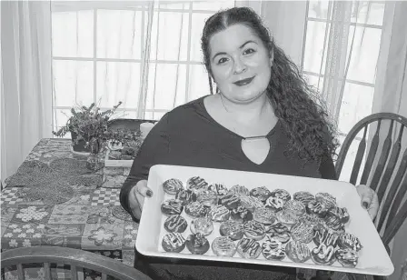
<path fill-rule="evenodd" d="M 372 137 L 369 151 L 365 153 L 367 135 L 369 128 L 372 127 L 370 125 L 376 125 L 376 131 Z M 378 151 L 379 143 L 381 143 L 380 138 L 383 135 L 383 131 L 381 131 L 383 126 L 385 126 L 385 136 L 382 138 L 382 148 Z M 350 183 L 357 184 L 363 157 L 367 155 L 358 185 L 367 185 L 368 179 L 371 179 L 369 186 L 376 191 L 382 209 L 381 215 L 376 217 L 376 221 L 378 221 L 379 233 L 384 230 L 382 240 L 385 245 L 390 243 L 407 217 L 407 202 L 402 204 L 403 197 L 407 192 L 407 148 L 402 151 L 402 143 L 407 141 L 407 130 L 403 137 L 405 128 L 407 128 L 407 118 L 402 115 L 378 113 L 363 118 L 352 127 L 346 136 L 335 165 L 336 174 L 339 178 L 349 147 L 356 135 L 362 131 L 363 135 L 354 160 Z M 397 165 L 398 162 L 399 165 Z M 374 163 L 377 164 L 372 171 Z M 386 191 L 388 193 L 382 202 Z M 386 217 L 388 218 L 384 223 Z"/>

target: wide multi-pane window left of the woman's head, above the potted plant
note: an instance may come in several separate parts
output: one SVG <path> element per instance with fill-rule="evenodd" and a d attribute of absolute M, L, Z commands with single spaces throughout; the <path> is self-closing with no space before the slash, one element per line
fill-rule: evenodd
<path fill-rule="evenodd" d="M 135 118 L 148 6 L 138 1 L 52 5 L 54 130 L 65 125 L 73 105 L 93 102 L 108 109 L 123 101 L 120 115 Z M 159 119 L 209 93 L 200 45 L 204 21 L 232 6 L 230 0 L 154 3 L 144 118 Z"/>

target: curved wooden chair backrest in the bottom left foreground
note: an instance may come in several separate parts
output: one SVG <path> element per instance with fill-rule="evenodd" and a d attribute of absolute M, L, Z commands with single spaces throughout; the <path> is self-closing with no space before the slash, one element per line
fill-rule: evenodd
<path fill-rule="evenodd" d="M 18 280 L 25 279 L 23 271 L 25 264 L 44 264 L 45 280 L 51 280 L 51 264 L 70 265 L 73 280 L 78 278 L 77 272 L 82 268 L 102 273 L 102 280 L 105 280 L 107 275 L 120 280 L 152 280 L 131 266 L 124 265 L 104 255 L 97 255 L 80 249 L 35 246 L 7 250 L 1 254 L 2 269 L 16 265 Z"/>

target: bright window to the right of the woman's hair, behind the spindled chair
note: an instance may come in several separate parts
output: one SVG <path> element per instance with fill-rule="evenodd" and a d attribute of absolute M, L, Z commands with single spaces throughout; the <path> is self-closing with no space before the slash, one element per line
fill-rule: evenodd
<path fill-rule="evenodd" d="M 329 10 L 332 2 L 309 1 L 306 20 L 305 44 L 303 45 L 303 75 L 310 85 L 322 90 L 326 62 L 330 25 Z M 347 55 L 350 55 L 353 37 L 352 55 L 349 71 L 345 80 L 341 108 L 337 124 L 342 144 L 352 126 L 363 117 L 372 114 L 376 65 L 382 36 L 384 2 L 352 2 L 351 26 L 349 30 Z M 359 138 L 360 139 L 360 138 Z M 350 176 L 352 163 L 359 143 L 354 141 L 343 166 L 341 177 Z M 339 151 L 339 150 L 338 150 Z"/>

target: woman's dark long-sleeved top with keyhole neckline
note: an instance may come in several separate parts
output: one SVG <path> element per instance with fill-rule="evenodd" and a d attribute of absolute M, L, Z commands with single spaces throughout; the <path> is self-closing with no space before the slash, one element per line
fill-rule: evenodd
<path fill-rule="evenodd" d="M 153 165 L 186 165 L 250 172 L 336 179 L 330 157 L 305 162 L 287 156 L 288 143 L 281 122 L 267 135 L 271 148 L 261 165 L 242 151 L 243 137 L 219 125 L 204 107 L 204 97 L 165 114 L 146 136 L 139 155 L 120 193 L 120 202 L 130 212 L 128 194 L 139 180 L 147 180 Z"/>

